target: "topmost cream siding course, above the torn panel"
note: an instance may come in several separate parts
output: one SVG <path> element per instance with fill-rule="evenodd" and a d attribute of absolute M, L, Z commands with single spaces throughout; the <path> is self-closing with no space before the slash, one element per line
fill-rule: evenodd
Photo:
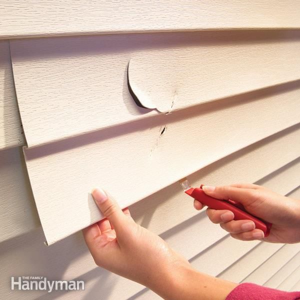
<path fill-rule="evenodd" d="M 0 37 L 230 28 L 299 28 L 299 1 L 4 0 Z"/>

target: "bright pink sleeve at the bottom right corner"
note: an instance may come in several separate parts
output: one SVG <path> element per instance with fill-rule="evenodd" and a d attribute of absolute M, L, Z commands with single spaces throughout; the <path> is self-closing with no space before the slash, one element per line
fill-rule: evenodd
<path fill-rule="evenodd" d="M 286 292 L 253 283 L 237 285 L 226 297 L 226 300 L 296 300 L 300 291 Z"/>

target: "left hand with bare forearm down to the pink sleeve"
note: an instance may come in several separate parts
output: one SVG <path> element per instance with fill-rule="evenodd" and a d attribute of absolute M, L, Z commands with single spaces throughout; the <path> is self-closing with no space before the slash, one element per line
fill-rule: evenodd
<path fill-rule="evenodd" d="M 94 189 L 92 196 L 106 218 L 82 232 L 98 266 L 139 282 L 167 300 L 224 300 L 236 286 L 192 269 L 185 258 L 136 224 L 128 208 L 122 211 L 103 190 Z"/>

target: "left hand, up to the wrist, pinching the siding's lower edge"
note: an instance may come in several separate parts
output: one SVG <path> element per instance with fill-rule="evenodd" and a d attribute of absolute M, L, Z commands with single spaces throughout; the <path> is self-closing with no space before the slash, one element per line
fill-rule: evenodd
<path fill-rule="evenodd" d="M 150 288 L 189 266 L 162 238 L 135 223 L 128 208 L 122 211 L 101 189 L 92 196 L 106 218 L 82 231 L 98 266 Z"/>

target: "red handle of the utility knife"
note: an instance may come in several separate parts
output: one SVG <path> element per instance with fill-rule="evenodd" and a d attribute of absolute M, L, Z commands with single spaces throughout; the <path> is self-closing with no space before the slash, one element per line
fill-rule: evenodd
<path fill-rule="evenodd" d="M 200 201 L 204 205 L 212 209 L 228 209 L 233 212 L 234 220 L 252 220 L 255 223 L 255 228 L 260 229 L 264 233 L 264 237 L 269 235 L 271 223 L 265 222 L 256 216 L 246 212 L 240 203 L 234 201 L 227 202 L 226 200 L 219 200 L 206 195 L 201 187 L 189 188 L 185 193 Z"/>

